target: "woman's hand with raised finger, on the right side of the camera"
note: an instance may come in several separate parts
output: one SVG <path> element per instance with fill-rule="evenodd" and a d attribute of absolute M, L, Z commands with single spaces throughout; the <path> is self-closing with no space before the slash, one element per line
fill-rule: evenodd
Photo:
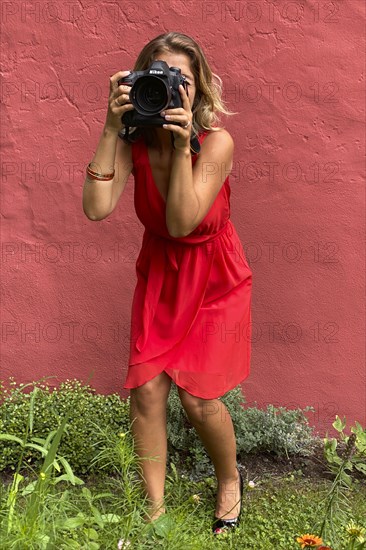
<path fill-rule="evenodd" d="M 167 124 L 164 124 L 163 128 L 165 130 L 171 130 L 174 133 L 175 149 L 184 151 L 187 149 L 190 150 L 193 115 L 191 105 L 189 103 L 189 97 L 182 84 L 179 85 L 179 92 L 183 106 L 177 107 L 176 109 L 166 109 L 163 111 L 163 116 L 167 121 Z M 180 126 L 176 124 L 169 124 L 170 121 L 179 122 Z"/>

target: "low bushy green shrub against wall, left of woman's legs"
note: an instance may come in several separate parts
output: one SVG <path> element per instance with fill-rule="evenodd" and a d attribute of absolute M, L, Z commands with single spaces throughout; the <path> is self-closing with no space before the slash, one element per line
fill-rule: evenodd
<path fill-rule="evenodd" d="M 29 387 L 37 388 L 37 400 L 32 407 L 32 393 L 27 393 Z M 60 444 L 60 453 L 77 474 L 93 472 L 93 458 L 99 440 L 96 426 L 103 425 L 111 433 L 129 428 L 129 399 L 122 400 L 116 394 L 96 394 L 93 388 L 83 386 L 78 380 L 66 380 L 59 388 L 50 388 L 40 382 L 16 384 L 11 380 L 10 389 L 0 384 L 0 403 L 0 432 L 21 439 L 27 433 L 31 409 L 34 437 L 43 437 L 43 434 L 55 430 L 69 411 L 69 424 Z M 14 470 L 19 456 L 20 449 L 15 442 L 10 439 L 6 444 L 3 442 L 0 471 Z M 22 457 L 25 463 L 36 468 L 41 464 L 34 447 L 23 449 Z"/>

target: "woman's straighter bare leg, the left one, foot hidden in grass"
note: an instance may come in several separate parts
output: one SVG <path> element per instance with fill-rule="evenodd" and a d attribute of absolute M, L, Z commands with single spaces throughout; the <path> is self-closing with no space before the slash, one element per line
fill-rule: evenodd
<path fill-rule="evenodd" d="M 130 392 L 132 434 L 136 453 L 143 458 L 141 460 L 142 482 L 149 501 L 146 519 L 151 520 L 165 512 L 166 405 L 170 385 L 171 378 L 162 372 L 142 386 L 131 389 Z"/>

